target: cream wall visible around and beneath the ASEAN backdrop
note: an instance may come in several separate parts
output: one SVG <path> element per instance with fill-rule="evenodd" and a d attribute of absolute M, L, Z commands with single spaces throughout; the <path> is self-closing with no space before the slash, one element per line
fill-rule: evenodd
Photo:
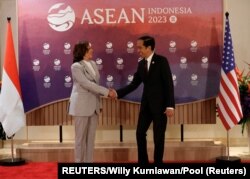
<path fill-rule="evenodd" d="M 224 11 L 229 12 L 231 33 L 233 37 L 233 46 L 235 52 L 236 63 L 240 69 L 244 68 L 244 61 L 250 62 L 250 50 L 248 43 L 250 42 L 250 14 L 249 0 L 224 0 Z M 14 37 L 14 44 L 17 47 L 17 13 L 16 13 L 16 0 L 0 0 L 0 66 L 2 74 L 2 63 L 4 59 L 5 50 L 5 36 L 6 36 L 6 22 L 7 17 L 12 18 L 12 31 Z M 16 48 L 17 49 L 17 48 Z M 17 52 L 16 52 L 17 54 Z M 1 77 L 0 77 L 1 79 Z M 149 138 L 152 139 L 152 135 L 149 134 Z M 217 124 L 213 125 L 184 125 L 184 140 L 193 139 L 208 139 L 208 140 L 223 140 L 225 141 L 227 133 L 222 126 L 220 119 L 217 120 Z M 180 139 L 180 126 L 168 125 L 167 139 Z M 230 140 L 233 144 L 245 144 L 247 145 L 246 134 L 241 134 L 241 126 L 236 126 L 229 132 Z M 98 140 L 117 140 L 119 141 L 119 129 L 110 130 L 98 130 Z M 59 127 L 58 126 L 30 126 L 24 127 L 20 130 L 15 139 L 20 140 L 58 140 L 59 139 Z M 63 139 L 74 139 L 74 127 L 63 127 Z M 124 141 L 135 140 L 135 131 L 125 130 Z"/>

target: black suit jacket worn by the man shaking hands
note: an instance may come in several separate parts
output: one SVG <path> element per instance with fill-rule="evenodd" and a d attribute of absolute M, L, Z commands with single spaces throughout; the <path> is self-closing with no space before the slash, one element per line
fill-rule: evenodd
<path fill-rule="evenodd" d="M 167 107 L 175 108 L 172 73 L 167 59 L 154 54 L 150 68 L 144 71 L 145 59 L 138 64 L 132 82 L 117 90 L 118 98 L 122 98 L 144 83 L 141 105 L 147 104 L 153 114 L 163 113 Z"/>

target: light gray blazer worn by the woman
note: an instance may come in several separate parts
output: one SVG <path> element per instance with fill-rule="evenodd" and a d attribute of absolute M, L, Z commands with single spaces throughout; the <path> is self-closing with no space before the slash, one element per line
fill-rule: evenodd
<path fill-rule="evenodd" d="M 96 75 L 83 62 L 73 63 L 71 73 L 73 88 L 70 96 L 69 114 L 91 116 L 100 112 L 100 96 L 108 96 L 109 90 L 99 85 L 100 74 L 94 61 L 90 61 Z"/>

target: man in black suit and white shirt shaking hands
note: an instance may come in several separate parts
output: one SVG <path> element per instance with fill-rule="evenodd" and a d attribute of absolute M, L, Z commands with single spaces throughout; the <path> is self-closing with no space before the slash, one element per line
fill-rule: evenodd
<path fill-rule="evenodd" d="M 122 98 L 144 84 L 140 114 L 136 129 L 138 162 L 149 163 L 147 154 L 147 131 L 153 121 L 154 163 L 163 162 L 167 118 L 174 115 L 175 100 L 172 73 L 167 58 L 154 52 L 155 40 L 142 36 L 137 40 L 137 51 L 142 57 L 138 63 L 133 81 L 118 89 L 117 97 Z"/>

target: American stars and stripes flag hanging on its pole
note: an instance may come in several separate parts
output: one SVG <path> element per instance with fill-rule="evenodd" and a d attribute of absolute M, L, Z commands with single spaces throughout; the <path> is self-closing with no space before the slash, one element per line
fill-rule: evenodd
<path fill-rule="evenodd" d="M 237 125 L 243 117 L 239 86 L 235 72 L 236 65 L 228 15 L 229 14 L 226 13 L 221 80 L 218 97 L 218 113 L 226 130 Z"/>

